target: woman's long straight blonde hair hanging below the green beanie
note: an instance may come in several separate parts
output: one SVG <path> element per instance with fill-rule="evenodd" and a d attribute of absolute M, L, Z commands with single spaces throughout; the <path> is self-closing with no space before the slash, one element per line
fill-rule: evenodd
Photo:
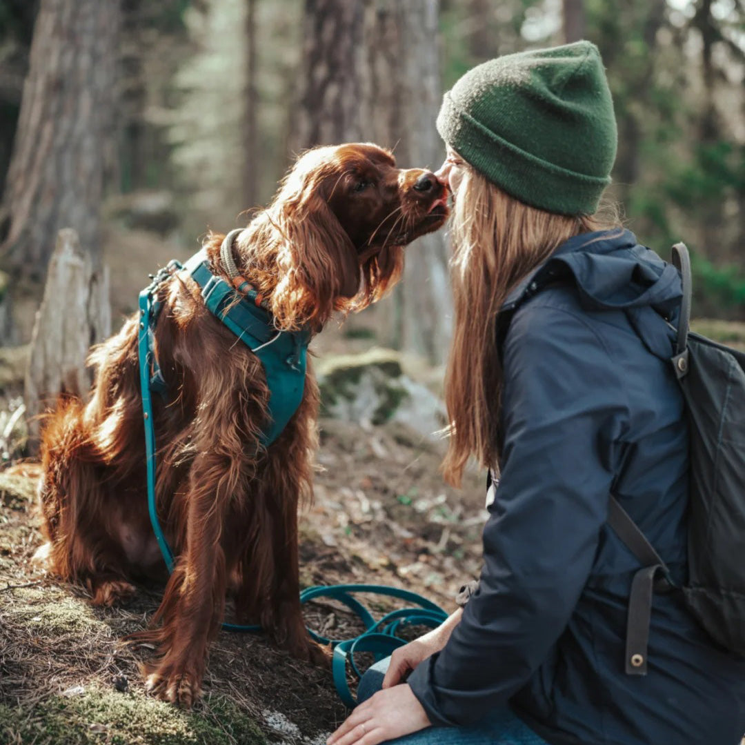
<path fill-rule="evenodd" d="M 510 290 L 568 238 L 620 226 L 600 215 L 557 215 L 510 197 L 469 165 L 451 218 L 454 328 L 445 377 L 448 451 L 441 466 L 460 485 L 470 456 L 495 468 L 500 455 L 502 373 L 496 317 Z"/>

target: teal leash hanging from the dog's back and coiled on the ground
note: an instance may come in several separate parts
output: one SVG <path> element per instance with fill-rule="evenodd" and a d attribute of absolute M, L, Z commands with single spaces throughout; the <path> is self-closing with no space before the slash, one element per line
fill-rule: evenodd
<path fill-rule="evenodd" d="M 160 522 L 155 498 L 155 481 L 156 481 L 156 442 L 155 427 L 153 425 L 153 369 L 157 371 L 157 362 L 153 354 L 153 336 L 154 326 L 159 311 L 159 302 L 155 299 L 156 291 L 159 285 L 170 276 L 183 268 L 178 261 L 171 261 L 168 266 L 159 270 L 152 277 L 153 281 L 139 294 L 139 373 L 140 373 L 140 390 L 142 393 L 142 417 L 145 422 L 145 463 L 148 482 L 148 513 L 150 514 L 150 524 L 153 526 L 156 541 L 160 548 L 163 560 L 168 567 L 169 574 L 174 571 L 174 554 L 168 541 L 165 539 Z M 375 621 L 369 610 L 355 597 L 354 593 L 366 592 L 384 597 L 395 597 L 399 600 L 405 600 L 408 603 L 416 604 L 416 608 L 405 608 L 387 613 L 379 621 Z M 356 705 L 355 697 L 349 689 L 346 680 L 346 664 L 352 668 L 352 671 L 358 677 L 361 677 L 361 671 L 355 663 L 355 654 L 358 652 L 373 653 L 375 662 L 389 656 L 393 650 L 402 647 L 407 642 L 399 635 L 399 630 L 405 626 L 425 626 L 434 628 L 439 626 L 448 617 L 447 613 L 433 603 L 431 600 L 417 595 L 416 592 L 398 589 L 396 587 L 387 587 L 383 585 L 332 585 L 309 587 L 300 592 L 300 603 L 305 605 L 311 600 L 318 597 L 326 597 L 331 600 L 337 600 L 343 603 L 349 610 L 358 616 L 364 624 L 364 633 L 351 639 L 330 639 L 314 632 L 306 627 L 308 634 L 319 644 L 330 644 L 333 648 L 332 656 L 332 675 L 334 685 L 340 699 L 346 706 L 353 708 Z M 261 627 L 256 624 L 222 624 L 223 630 L 229 632 L 248 632 L 259 633 Z"/>

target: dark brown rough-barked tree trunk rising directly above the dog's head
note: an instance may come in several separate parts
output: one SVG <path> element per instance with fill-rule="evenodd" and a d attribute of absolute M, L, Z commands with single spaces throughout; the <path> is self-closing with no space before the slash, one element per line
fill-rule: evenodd
<path fill-rule="evenodd" d="M 291 136 L 294 151 L 361 136 L 360 57 L 370 0 L 305 0 L 303 90 Z"/>

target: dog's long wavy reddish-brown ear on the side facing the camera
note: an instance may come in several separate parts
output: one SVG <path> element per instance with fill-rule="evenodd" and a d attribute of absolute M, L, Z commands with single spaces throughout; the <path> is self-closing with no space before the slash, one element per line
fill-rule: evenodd
<path fill-rule="evenodd" d="M 323 194 L 305 191 L 305 200 L 288 200 L 279 206 L 285 271 L 277 289 L 286 302 L 296 309 L 299 304 L 305 314 L 323 323 L 359 292 L 357 252 Z"/>

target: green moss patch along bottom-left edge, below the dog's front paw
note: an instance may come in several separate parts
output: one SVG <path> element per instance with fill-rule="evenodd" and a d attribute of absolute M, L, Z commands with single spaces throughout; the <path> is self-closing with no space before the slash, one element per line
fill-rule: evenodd
<path fill-rule="evenodd" d="M 223 698 L 182 711 L 144 694 L 92 689 L 31 710 L 0 705 L 0 742 L 19 745 L 264 745 L 256 723 Z"/>

